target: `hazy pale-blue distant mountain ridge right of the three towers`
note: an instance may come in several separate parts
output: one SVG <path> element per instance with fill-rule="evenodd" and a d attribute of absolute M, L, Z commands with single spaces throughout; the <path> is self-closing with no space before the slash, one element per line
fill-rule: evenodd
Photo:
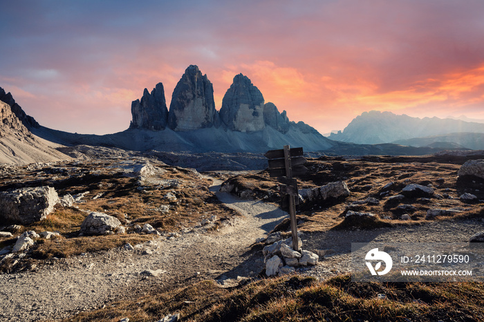
<path fill-rule="evenodd" d="M 463 132 L 484 133 L 484 124 L 438 117 L 421 119 L 391 112 L 370 111 L 355 117 L 344 131 L 332 133 L 328 138 L 357 144 L 380 144 Z"/>

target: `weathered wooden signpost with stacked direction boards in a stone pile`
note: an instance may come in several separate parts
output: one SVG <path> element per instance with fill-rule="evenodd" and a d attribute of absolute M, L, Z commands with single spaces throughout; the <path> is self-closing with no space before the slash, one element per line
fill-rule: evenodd
<path fill-rule="evenodd" d="M 296 205 L 299 205 L 299 198 L 297 193 L 297 181 L 292 178 L 292 176 L 301 176 L 308 171 L 303 165 L 307 160 L 303 158 L 302 155 L 302 148 L 290 149 L 288 145 L 285 145 L 282 150 L 270 150 L 264 154 L 264 156 L 269 159 L 269 176 L 271 178 L 278 177 L 277 181 L 281 183 L 279 187 L 283 195 L 283 205 L 285 200 L 289 201 L 292 249 L 295 251 L 299 251 L 296 221 Z"/>

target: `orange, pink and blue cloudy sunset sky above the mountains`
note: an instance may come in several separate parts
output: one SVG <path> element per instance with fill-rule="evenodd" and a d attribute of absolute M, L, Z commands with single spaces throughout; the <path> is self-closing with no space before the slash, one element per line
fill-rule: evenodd
<path fill-rule="evenodd" d="M 484 120 L 484 1 L 2 1 L 0 87 L 42 125 L 123 131 L 190 64 L 320 133 L 364 111 Z"/>

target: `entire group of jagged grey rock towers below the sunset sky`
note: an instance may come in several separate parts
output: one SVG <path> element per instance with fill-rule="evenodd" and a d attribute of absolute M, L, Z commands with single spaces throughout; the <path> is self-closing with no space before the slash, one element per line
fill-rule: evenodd
<path fill-rule="evenodd" d="M 160 131 L 168 127 L 183 132 L 221 127 L 224 131 L 253 133 L 270 126 L 283 135 L 292 129 L 319 135 L 324 140 L 311 126 L 290 122 L 286 111 L 279 113 L 273 103 L 264 103 L 259 88 L 239 74 L 227 89 L 220 111 L 216 111 L 212 83 L 198 66 L 190 65 L 176 84 L 169 111 L 162 83 L 151 94 L 145 88 L 142 98 L 131 104 L 133 120 L 129 128 Z"/>

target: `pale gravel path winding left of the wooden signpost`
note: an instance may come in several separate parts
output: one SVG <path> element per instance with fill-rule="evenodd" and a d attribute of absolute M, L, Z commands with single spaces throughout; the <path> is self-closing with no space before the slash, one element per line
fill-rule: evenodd
<path fill-rule="evenodd" d="M 218 191 L 220 184 L 216 180 L 211 190 Z M 286 212 L 227 193 L 217 196 L 243 215 L 219 231 L 201 227 L 172 240 L 159 238 L 137 245 L 134 251 L 113 249 L 50 261 L 37 272 L 0 274 L 0 321 L 61 319 L 124 296 L 140 296 L 155 285 L 257 275 L 263 261 L 248 247 L 266 236 Z M 159 275 L 142 274 L 146 270 Z"/>

